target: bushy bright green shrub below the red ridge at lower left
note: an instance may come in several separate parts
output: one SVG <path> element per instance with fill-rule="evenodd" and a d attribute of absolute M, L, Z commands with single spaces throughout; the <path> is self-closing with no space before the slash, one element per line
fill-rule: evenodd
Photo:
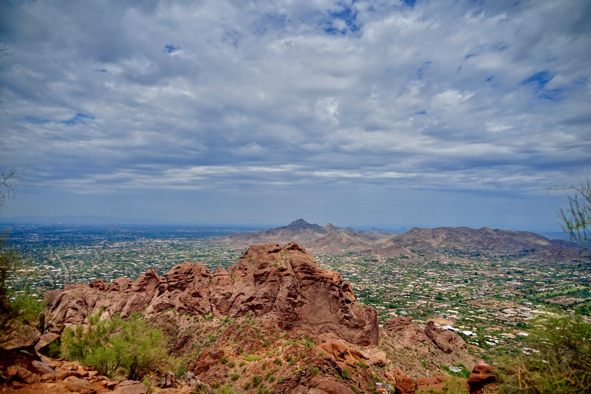
<path fill-rule="evenodd" d="M 70 360 L 94 366 L 100 375 L 123 373 L 129 380 L 144 380 L 166 357 L 161 330 L 148 327 L 140 315 L 127 321 L 119 317 L 99 320 L 89 317 L 89 325 L 66 328 L 61 337 L 61 353 Z"/>

